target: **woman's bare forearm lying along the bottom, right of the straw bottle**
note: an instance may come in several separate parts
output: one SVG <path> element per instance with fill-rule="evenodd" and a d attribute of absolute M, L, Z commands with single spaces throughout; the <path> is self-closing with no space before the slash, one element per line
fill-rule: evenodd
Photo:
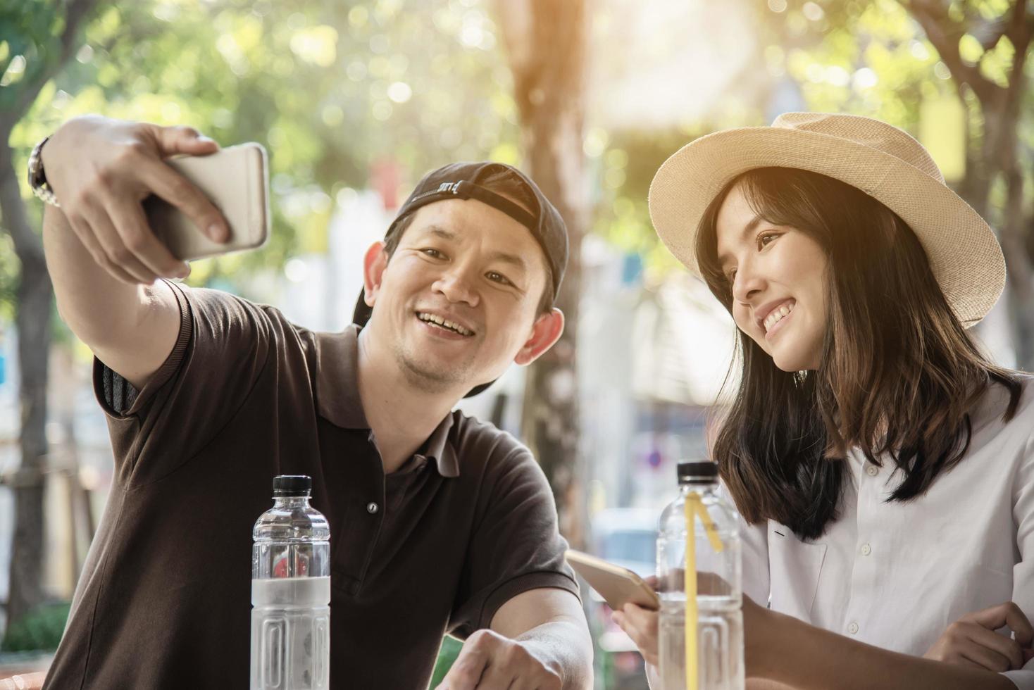
<path fill-rule="evenodd" d="M 1005 677 L 891 652 L 780 614 L 772 625 L 747 630 L 751 676 L 800 690 L 1015 690 Z M 753 649 L 751 649 L 753 648 Z"/>

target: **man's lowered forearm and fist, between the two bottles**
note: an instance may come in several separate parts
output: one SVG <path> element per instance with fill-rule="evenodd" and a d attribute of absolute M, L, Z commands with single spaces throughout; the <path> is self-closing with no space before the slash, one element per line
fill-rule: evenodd
<path fill-rule="evenodd" d="M 592 687 L 592 639 L 574 594 L 537 589 L 507 601 L 490 629 L 467 638 L 438 690 L 509 687 Z"/>

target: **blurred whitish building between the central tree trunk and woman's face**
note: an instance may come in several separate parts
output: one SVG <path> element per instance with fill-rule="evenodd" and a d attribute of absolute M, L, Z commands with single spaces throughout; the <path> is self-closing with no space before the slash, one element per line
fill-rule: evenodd
<path fill-rule="evenodd" d="M 578 333 L 589 512 L 661 507 L 675 465 L 707 457 L 705 424 L 729 370 L 732 319 L 685 272 L 643 284 L 636 255 L 596 237 L 582 254 Z"/>

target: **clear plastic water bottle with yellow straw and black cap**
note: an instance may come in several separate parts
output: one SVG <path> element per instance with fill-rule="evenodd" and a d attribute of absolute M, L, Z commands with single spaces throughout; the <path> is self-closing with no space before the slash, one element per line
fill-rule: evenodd
<path fill-rule="evenodd" d="M 714 463 L 679 463 L 678 490 L 678 498 L 661 513 L 657 541 L 661 687 L 742 690 L 739 516 L 719 493 Z M 688 572 L 696 576 L 687 577 Z M 696 588 L 695 610 L 692 601 L 687 606 L 687 587 Z M 688 610 L 690 617 L 697 616 L 695 660 L 693 647 L 687 646 L 687 633 L 693 634 L 686 625 Z M 691 664 L 695 661 L 695 669 L 688 668 L 688 658 Z"/>

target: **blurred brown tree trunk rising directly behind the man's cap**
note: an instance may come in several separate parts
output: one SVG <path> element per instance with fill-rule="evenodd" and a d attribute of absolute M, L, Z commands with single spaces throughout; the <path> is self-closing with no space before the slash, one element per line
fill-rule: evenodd
<path fill-rule="evenodd" d="M 570 253 L 556 306 L 567 325 L 559 342 L 527 372 L 522 433 L 556 497 L 560 529 L 582 538 L 583 474 L 575 353 L 581 238 L 588 225 L 584 178 L 584 0 L 500 0 L 500 26 L 520 111 L 525 168 L 568 226 Z"/>

